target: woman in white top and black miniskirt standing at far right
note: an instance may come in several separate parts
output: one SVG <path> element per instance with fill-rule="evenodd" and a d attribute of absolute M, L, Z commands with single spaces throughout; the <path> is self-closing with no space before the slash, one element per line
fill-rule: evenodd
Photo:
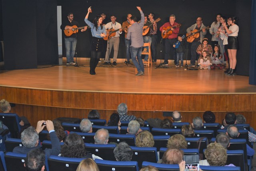
<path fill-rule="evenodd" d="M 234 76 L 235 68 L 236 68 L 236 52 L 238 49 L 238 32 L 239 27 L 237 24 L 237 18 L 235 16 L 232 16 L 228 18 L 228 25 L 230 25 L 229 28 L 226 26 L 226 22 L 224 22 L 223 26 L 228 34 L 228 57 L 229 57 L 229 69 L 225 71 L 225 74 L 228 76 Z"/>

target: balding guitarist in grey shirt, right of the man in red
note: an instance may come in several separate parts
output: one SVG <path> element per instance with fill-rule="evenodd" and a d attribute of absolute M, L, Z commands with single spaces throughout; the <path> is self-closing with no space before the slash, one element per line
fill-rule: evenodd
<path fill-rule="evenodd" d="M 190 26 L 189 28 L 187 28 L 187 33 L 189 35 L 191 35 L 192 31 L 196 30 L 201 30 L 200 32 L 200 36 L 198 38 L 195 38 L 194 41 L 191 44 L 191 48 L 190 48 L 190 53 L 191 53 L 191 59 L 190 59 L 190 64 L 188 66 L 192 66 L 194 67 L 196 64 L 196 59 L 198 58 L 198 54 L 196 52 L 196 49 L 198 48 L 198 46 L 202 43 L 202 40 L 204 38 L 204 36 L 206 35 L 206 29 L 204 27 L 204 24 L 202 23 L 203 19 L 202 17 L 198 17 L 196 19 L 196 24 L 193 24 L 192 26 Z"/>

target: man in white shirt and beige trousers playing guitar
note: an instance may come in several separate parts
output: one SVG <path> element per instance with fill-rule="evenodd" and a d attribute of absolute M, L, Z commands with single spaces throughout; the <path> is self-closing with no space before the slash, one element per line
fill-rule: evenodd
<path fill-rule="evenodd" d="M 117 55 L 118 55 L 118 48 L 119 48 L 119 36 L 120 34 L 122 34 L 122 28 L 121 28 L 121 24 L 116 22 L 116 16 L 112 15 L 110 16 L 111 22 L 107 23 L 104 27 L 106 30 L 109 29 L 113 29 L 113 30 L 118 30 L 116 32 L 116 36 L 111 37 L 108 40 L 108 45 L 107 45 L 107 51 L 106 51 L 106 56 L 105 56 L 105 64 L 108 64 L 109 62 L 109 54 L 112 50 L 112 47 L 114 46 L 114 56 L 113 56 L 113 64 L 116 65 L 116 59 L 117 59 Z"/>

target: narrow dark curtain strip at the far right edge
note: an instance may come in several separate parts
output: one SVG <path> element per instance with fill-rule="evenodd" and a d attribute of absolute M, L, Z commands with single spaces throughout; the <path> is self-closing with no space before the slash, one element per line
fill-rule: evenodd
<path fill-rule="evenodd" d="M 249 84 L 256 85 L 256 0 L 252 0 Z"/>

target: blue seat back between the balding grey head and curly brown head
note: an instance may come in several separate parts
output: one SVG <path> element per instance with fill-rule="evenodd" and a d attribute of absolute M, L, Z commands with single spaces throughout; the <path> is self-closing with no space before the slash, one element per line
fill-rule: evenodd
<path fill-rule="evenodd" d="M 125 141 L 130 146 L 135 146 L 135 135 L 132 134 L 109 134 L 108 142 L 120 143 Z"/>

